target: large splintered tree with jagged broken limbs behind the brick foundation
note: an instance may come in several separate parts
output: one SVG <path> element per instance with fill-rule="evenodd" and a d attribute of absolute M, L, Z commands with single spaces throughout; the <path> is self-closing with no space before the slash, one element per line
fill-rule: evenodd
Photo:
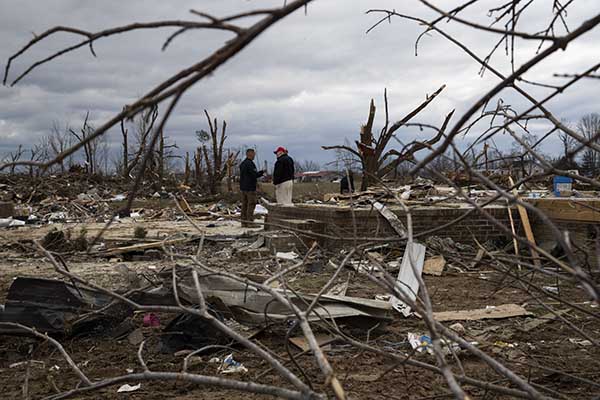
<path fill-rule="evenodd" d="M 437 134 L 426 142 L 413 141 L 403 147 L 402 150 L 390 149 L 386 151 L 386 148 L 394 137 L 394 133 L 402 126 L 408 124 L 408 122 L 420 113 L 433 99 L 444 90 L 444 86 L 436 90 L 432 95 L 427 96 L 425 101 L 421 103 L 417 108 L 408 113 L 404 118 L 389 125 L 389 114 L 388 114 L 388 103 L 387 103 L 387 91 L 384 91 L 385 101 L 385 126 L 381 129 L 377 139 L 373 134 L 373 123 L 375 121 L 375 102 L 371 99 L 369 106 L 369 117 L 367 123 L 362 125 L 360 128 L 360 140 L 357 140 L 356 148 L 352 148 L 348 145 L 338 146 L 323 146 L 325 150 L 344 150 L 350 152 L 354 156 L 358 157 L 362 165 L 362 184 L 361 190 L 366 190 L 370 183 L 376 182 L 377 180 L 384 178 L 389 173 L 396 170 L 398 165 L 403 161 L 412 161 L 414 159 L 413 154 L 419 150 L 430 148 L 432 145 L 437 143 L 444 134 L 450 118 L 454 111 L 452 111 L 446 117 L 444 124 L 441 129 L 438 130 Z"/>

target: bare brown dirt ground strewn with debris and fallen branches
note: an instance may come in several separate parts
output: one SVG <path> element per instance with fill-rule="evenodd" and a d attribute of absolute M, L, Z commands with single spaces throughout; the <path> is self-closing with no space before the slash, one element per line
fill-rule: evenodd
<path fill-rule="evenodd" d="M 133 229 L 140 221 L 132 219 L 123 220 L 115 224 L 105 235 L 107 243 L 122 240 L 134 240 Z M 202 229 L 207 235 L 239 235 L 246 233 L 252 235 L 255 230 L 245 230 L 237 222 L 207 222 L 200 221 Z M 214 224 L 216 226 L 209 227 Z M 164 238 L 175 233 L 193 233 L 185 221 L 156 220 L 145 221 L 143 225 L 148 229 L 148 239 Z M 93 236 L 101 228 L 102 223 L 85 224 L 87 234 Z M 19 243 L 27 243 L 34 238 L 42 238 L 53 227 L 77 231 L 81 228 L 78 224 L 54 225 L 41 228 L 24 227 L 16 230 L 2 232 L 0 242 L 0 304 L 7 290 L 16 276 L 52 277 L 62 279 L 53 271 L 51 265 L 39 255 L 35 255 L 30 247 Z M 240 239 L 243 240 L 243 239 Z M 251 242 L 252 238 L 247 239 Z M 274 268 L 272 258 L 267 259 L 241 259 L 228 252 L 231 243 L 207 242 L 202 257 L 214 267 L 226 268 L 231 272 L 257 274 L 264 273 L 265 269 Z M 191 246 L 181 245 L 181 251 L 195 251 Z M 129 269 L 148 277 L 156 277 L 158 271 L 169 268 L 172 261 L 162 259 L 154 261 L 122 261 L 118 259 L 98 259 L 83 253 L 70 253 L 65 259 L 72 272 L 79 274 L 84 279 L 101 284 L 111 289 L 125 289 L 122 274 L 115 268 L 119 264 L 126 264 Z M 333 269 L 325 267 L 320 272 L 307 272 L 304 270 L 290 276 L 288 283 L 291 287 L 304 293 L 316 292 L 333 273 Z M 351 274 L 349 277 L 348 274 Z M 361 273 L 344 271 L 339 281 L 349 278 L 347 295 L 374 298 L 383 294 L 383 290 L 375 285 L 368 277 Z M 522 287 L 510 279 L 506 280 L 498 273 L 482 263 L 476 271 L 463 271 L 449 265 L 442 276 L 425 276 L 427 290 L 433 302 L 434 311 L 461 310 L 498 306 L 506 303 L 523 305 L 533 316 L 514 317 L 502 320 L 463 321 L 465 336 L 477 342 L 477 346 L 493 355 L 513 371 L 518 372 L 534 385 L 544 386 L 572 399 L 594 399 L 600 396 L 600 389 L 585 380 L 600 382 L 600 349 L 593 345 L 585 345 L 582 338 L 569 329 L 561 320 L 549 321 L 530 332 L 523 332 L 520 328 L 535 317 L 547 313 L 543 307 Z M 553 285 L 554 280 L 536 276 L 533 279 L 539 286 Z M 537 293 L 552 307 L 560 309 L 553 299 L 543 293 Z M 563 299 L 580 307 L 581 310 L 571 310 L 565 317 L 579 328 L 585 328 L 594 337 L 600 335 L 600 319 L 598 318 L 597 305 L 589 301 L 580 287 L 561 283 L 560 296 Z M 173 316 L 160 315 L 161 326 L 164 326 Z M 134 322 L 141 326 L 141 315 L 134 317 Z M 452 322 L 448 323 L 452 324 Z M 388 352 L 406 354 L 410 352 L 407 334 L 426 333 L 426 327 L 417 317 L 403 318 L 394 315 L 392 322 L 378 329 L 367 331 L 351 326 L 343 329 L 355 338 L 367 341 Z M 282 362 L 289 362 L 286 351 L 285 326 L 273 325 L 265 329 L 256 337 L 259 343 L 272 349 Z M 152 370 L 178 371 L 181 368 L 183 357 L 174 354 L 164 354 L 156 346 L 159 330 L 144 328 L 147 340 L 145 358 Z M 97 335 L 85 338 L 68 338 L 62 341 L 65 349 L 70 352 L 75 362 L 92 379 L 106 378 L 122 375 L 131 370 L 140 372 L 137 362 L 137 346 L 131 345 L 126 339 L 115 340 L 106 336 Z M 291 347 L 291 351 L 298 354 L 300 350 Z M 212 357 L 224 356 L 226 353 L 216 353 L 203 356 L 201 362 L 190 368 L 191 372 L 198 374 L 218 376 L 217 365 L 210 363 Z M 432 372 L 415 367 L 396 365 L 391 359 L 372 353 L 359 351 L 346 344 L 333 344 L 326 352 L 342 385 L 352 399 L 434 399 L 451 398 L 444 379 Z M 424 362 L 435 364 L 433 356 L 424 353 L 414 356 Z M 449 358 L 448 362 L 455 373 L 460 374 L 461 368 L 473 378 L 506 384 L 506 381 L 481 360 L 466 352 L 458 353 L 460 364 L 457 360 Z M 263 377 L 256 377 L 267 370 L 267 365 L 257 356 L 247 350 L 236 348 L 234 358 L 248 368 L 246 375 L 236 375 L 233 378 L 242 380 L 256 380 L 266 384 L 286 385 L 282 378 L 269 372 Z M 36 360 L 28 369 L 23 361 Z M 310 356 L 298 358 L 300 366 L 307 371 L 307 377 L 315 388 L 322 388 L 324 382 L 318 372 L 314 360 Z M 298 372 L 295 367 L 291 367 Z M 554 370 L 560 370 L 571 375 L 559 375 Z M 57 390 L 73 388 L 77 377 L 69 369 L 61 355 L 48 343 L 27 337 L 0 336 L 0 392 L 2 398 L 23 398 L 24 383 L 30 398 L 37 399 L 56 393 Z M 130 382 L 135 384 L 136 382 Z M 214 387 L 203 387 L 183 382 L 143 382 L 139 390 L 129 394 L 117 394 L 118 386 L 111 386 L 100 391 L 81 395 L 77 399 L 254 399 L 258 395 L 249 395 L 234 391 L 222 390 Z M 508 398 L 493 392 L 465 385 L 464 389 L 473 398 L 500 399 Z M 549 393 L 556 396 L 556 393 Z"/>

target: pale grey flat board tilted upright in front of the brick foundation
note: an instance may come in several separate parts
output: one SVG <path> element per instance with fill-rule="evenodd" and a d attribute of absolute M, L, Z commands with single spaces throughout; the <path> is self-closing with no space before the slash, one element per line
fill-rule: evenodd
<path fill-rule="evenodd" d="M 415 276 L 415 272 L 421 275 L 424 262 L 425 246 L 414 242 L 408 243 L 406 245 L 406 250 L 404 251 L 404 256 L 402 257 L 400 271 L 398 272 L 396 289 L 402 293 L 404 297 L 413 301 L 417 298 L 417 292 L 419 291 L 419 281 Z M 410 306 L 399 298 L 392 296 L 390 298 L 390 303 L 396 311 L 402 313 L 405 317 L 410 315 Z"/>

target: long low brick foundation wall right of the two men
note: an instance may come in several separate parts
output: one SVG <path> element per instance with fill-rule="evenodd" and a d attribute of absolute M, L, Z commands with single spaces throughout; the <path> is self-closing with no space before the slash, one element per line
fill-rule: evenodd
<path fill-rule="evenodd" d="M 293 227 L 294 225 L 290 222 L 292 220 L 315 220 L 322 223 L 321 226 L 324 226 L 324 229 L 321 228 L 318 230 L 320 233 L 343 238 L 354 236 L 353 213 L 349 207 L 329 205 L 296 205 L 294 207 L 286 207 L 270 205 L 267 208 L 269 209 L 267 222 Z M 390 207 L 390 209 L 406 224 L 406 214 L 402 209 L 398 207 Z M 489 206 L 485 207 L 485 210 L 510 229 L 506 207 Z M 412 209 L 411 215 L 415 235 L 439 228 L 438 231 L 428 233 L 427 235 L 451 237 L 455 241 L 462 243 L 472 242 L 473 237 L 476 237 L 481 242 L 508 239 L 508 236 L 500 228 L 471 207 L 419 207 Z M 444 227 L 444 224 L 449 224 L 461 216 L 465 217 L 448 227 Z M 513 218 L 515 218 L 515 224 L 519 226 L 520 223 L 516 211 L 513 211 Z M 397 237 L 390 224 L 371 207 L 355 209 L 354 220 L 356 221 L 357 237 Z M 344 244 L 343 240 L 321 239 L 321 241 L 328 241 L 328 245 L 336 247 L 337 245 Z"/>

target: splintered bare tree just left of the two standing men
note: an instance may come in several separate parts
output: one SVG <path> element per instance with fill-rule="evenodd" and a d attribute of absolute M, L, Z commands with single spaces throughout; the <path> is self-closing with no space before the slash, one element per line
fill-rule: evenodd
<path fill-rule="evenodd" d="M 196 132 L 198 141 L 202 143 L 201 147 L 196 150 L 196 154 L 194 155 L 196 184 L 201 183 L 202 175 L 205 173 L 208 191 L 210 194 L 216 194 L 219 192 L 220 184 L 223 181 L 223 178 L 225 178 L 227 171 L 232 170 L 231 165 L 235 163 L 239 151 L 237 153 L 229 152 L 227 159 L 223 159 L 223 146 L 227 139 L 227 136 L 225 135 L 227 122 L 223 120 L 221 133 L 219 134 L 219 124 L 217 119 L 211 119 L 206 110 L 204 110 L 204 114 L 206 115 L 210 132 L 207 132 L 204 129 Z M 203 163 L 204 167 L 202 165 Z"/>

